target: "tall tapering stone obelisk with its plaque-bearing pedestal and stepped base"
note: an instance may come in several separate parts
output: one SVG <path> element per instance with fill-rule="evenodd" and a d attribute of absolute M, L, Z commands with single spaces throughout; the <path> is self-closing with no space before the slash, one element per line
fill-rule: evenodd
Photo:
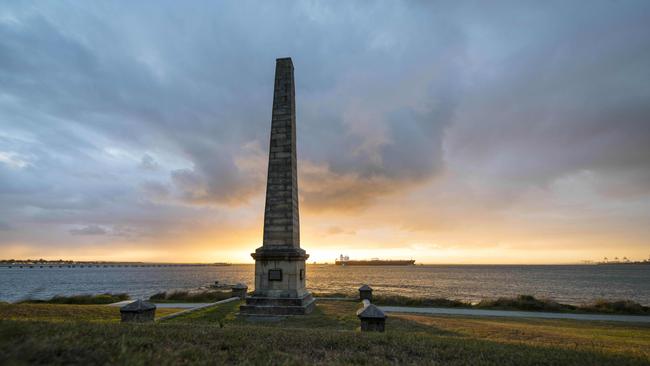
<path fill-rule="evenodd" d="M 305 288 L 305 260 L 300 248 L 296 92 L 291 58 L 275 62 L 271 146 L 266 182 L 264 239 L 255 259 L 255 291 L 240 307 L 245 315 L 301 315 L 314 309 Z"/>

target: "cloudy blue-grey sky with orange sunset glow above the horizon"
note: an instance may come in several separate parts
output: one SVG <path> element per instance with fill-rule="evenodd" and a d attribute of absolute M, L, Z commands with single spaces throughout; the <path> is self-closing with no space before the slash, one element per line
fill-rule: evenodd
<path fill-rule="evenodd" d="M 309 261 L 650 255 L 648 1 L 3 1 L 0 258 L 250 263 L 292 57 Z"/>

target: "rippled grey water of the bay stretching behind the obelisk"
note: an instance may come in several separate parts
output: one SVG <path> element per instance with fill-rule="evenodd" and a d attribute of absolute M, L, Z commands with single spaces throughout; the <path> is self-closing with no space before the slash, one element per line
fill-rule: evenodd
<path fill-rule="evenodd" d="M 579 304 L 631 299 L 650 305 L 650 265 L 604 266 L 407 266 L 309 265 L 307 285 L 315 292 L 354 292 L 367 283 L 375 293 L 478 301 L 531 294 Z M 126 292 L 149 296 L 192 289 L 218 280 L 252 289 L 253 265 L 224 267 L 0 268 L 0 300 L 53 295 Z"/>

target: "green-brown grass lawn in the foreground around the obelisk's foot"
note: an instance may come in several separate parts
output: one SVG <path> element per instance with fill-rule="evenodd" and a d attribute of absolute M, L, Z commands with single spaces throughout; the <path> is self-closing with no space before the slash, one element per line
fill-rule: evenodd
<path fill-rule="evenodd" d="M 155 324 L 71 306 L 0 305 L 0 364 L 650 364 L 643 325 L 394 314 L 379 334 L 359 332 L 358 304 L 344 301 L 264 321 L 238 317 L 233 302 Z"/>

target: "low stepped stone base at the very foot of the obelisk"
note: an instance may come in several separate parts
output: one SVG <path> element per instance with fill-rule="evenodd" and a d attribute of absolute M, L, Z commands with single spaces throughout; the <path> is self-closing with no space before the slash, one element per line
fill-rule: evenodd
<path fill-rule="evenodd" d="M 242 315 L 305 315 L 314 310 L 316 300 L 310 293 L 303 297 L 250 296 L 246 305 L 239 307 Z"/>

